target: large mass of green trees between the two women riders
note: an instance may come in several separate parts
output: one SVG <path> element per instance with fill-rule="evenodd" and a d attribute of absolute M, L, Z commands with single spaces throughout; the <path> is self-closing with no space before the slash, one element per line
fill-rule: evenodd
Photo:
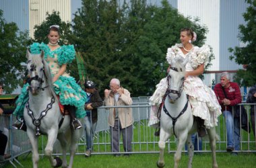
<path fill-rule="evenodd" d="M 105 89 L 117 77 L 133 97 L 151 95 L 166 75 L 166 51 L 179 43 L 181 28 L 197 32 L 197 46 L 207 32 L 198 19 L 180 15 L 166 0 L 162 7 L 146 0 L 131 0 L 122 7 L 116 0 L 84 0 L 73 22 L 69 42 L 84 56 L 89 79 Z"/>

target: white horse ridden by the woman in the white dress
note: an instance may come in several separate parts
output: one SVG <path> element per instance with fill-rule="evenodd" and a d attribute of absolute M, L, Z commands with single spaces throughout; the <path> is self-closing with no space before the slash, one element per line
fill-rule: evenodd
<path fill-rule="evenodd" d="M 174 134 L 177 137 L 177 151 L 174 154 L 174 167 L 178 167 L 181 160 L 181 151 L 187 140 L 189 163 L 188 167 L 192 167 L 194 155 L 194 147 L 191 142 L 191 134 L 196 132 L 197 123 L 193 119 L 191 105 L 189 99 L 183 91 L 183 83 L 185 80 L 185 64 L 184 62 L 176 62 L 170 67 L 167 76 L 168 89 L 166 91 L 166 99 L 160 116 L 160 140 L 158 146 L 160 148 L 160 157 L 157 162 L 158 167 L 164 167 L 164 148 L 168 138 Z M 216 135 L 215 128 L 207 129 L 212 149 L 212 167 L 218 167 L 216 161 Z"/>

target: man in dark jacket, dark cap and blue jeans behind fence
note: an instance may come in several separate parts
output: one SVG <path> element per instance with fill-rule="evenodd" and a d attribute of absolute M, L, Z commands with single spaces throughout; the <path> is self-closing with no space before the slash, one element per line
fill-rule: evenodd
<path fill-rule="evenodd" d="M 84 106 L 86 109 L 85 117 L 85 131 L 86 131 L 86 157 L 90 157 L 92 152 L 92 137 L 96 130 L 98 121 L 98 110 L 97 108 L 103 105 L 103 101 L 95 88 L 96 84 L 92 81 L 86 81 L 84 84 L 86 88 L 87 101 Z"/>

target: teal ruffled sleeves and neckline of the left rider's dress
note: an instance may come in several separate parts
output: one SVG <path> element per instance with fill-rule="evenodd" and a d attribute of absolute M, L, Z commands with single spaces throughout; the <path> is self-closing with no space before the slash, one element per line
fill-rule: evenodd
<path fill-rule="evenodd" d="M 34 42 L 32 45 L 30 45 L 30 52 L 32 54 L 40 54 L 41 50 L 44 51 L 44 59 L 46 59 L 47 56 L 53 58 L 54 55 L 57 54 L 60 66 L 63 64 L 71 63 L 75 58 L 75 48 L 73 45 L 63 45 L 54 51 L 51 51 L 49 46 L 43 42 L 41 44 Z"/>

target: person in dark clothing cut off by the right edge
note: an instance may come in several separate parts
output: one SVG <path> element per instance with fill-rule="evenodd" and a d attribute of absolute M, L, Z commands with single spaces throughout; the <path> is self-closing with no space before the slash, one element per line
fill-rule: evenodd
<path fill-rule="evenodd" d="M 247 103 L 256 103 L 256 85 L 251 87 L 247 97 Z M 251 106 L 251 126 L 253 127 L 253 135 L 255 136 L 255 120 L 256 120 L 256 106 Z"/>

